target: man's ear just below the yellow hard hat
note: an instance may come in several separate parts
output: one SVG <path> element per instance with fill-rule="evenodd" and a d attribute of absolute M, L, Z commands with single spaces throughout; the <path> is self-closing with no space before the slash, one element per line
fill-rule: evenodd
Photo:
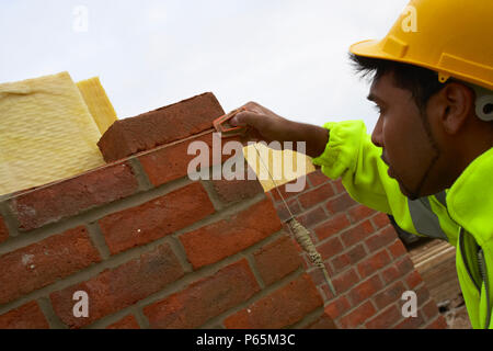
<path fill-rule="evenodd" d="M 432 109 L 439 114 L 444 131 L 449 135 L 456 135 L 468 118 L 474 116 L 474 106 L 473 90 L 465 84 L 450 82 L 438 92 L 436 99 L 433 99 Z"/>

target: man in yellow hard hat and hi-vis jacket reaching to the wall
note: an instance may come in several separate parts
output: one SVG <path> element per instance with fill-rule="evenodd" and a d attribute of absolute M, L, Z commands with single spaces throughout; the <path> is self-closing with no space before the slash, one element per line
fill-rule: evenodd
<path fill-rule="evenodd" d="M 492 14 L 491 0 L 413 0 L 382 41 L 351 47 L 374 78 L 371 137 L 363 122 L 319 127 L 256 103 L 232 120 L 257 139 L 306 141 L 353 199 L 456 246 L 473 328 L 493 328 Z"/>

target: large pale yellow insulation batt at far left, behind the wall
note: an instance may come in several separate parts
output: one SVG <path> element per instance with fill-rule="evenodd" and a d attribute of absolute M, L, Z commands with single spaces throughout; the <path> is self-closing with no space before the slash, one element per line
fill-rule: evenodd
<path fill-rule="evenodd" d="M 0 84 L 0 195 L 105 165 L 100 138 L 68 72 Z"/>

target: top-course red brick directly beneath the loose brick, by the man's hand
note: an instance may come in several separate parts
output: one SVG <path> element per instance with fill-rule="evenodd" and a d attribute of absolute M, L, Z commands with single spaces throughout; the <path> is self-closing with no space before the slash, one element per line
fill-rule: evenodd
<path fill-rule="evenodd" d="M 208 163 L 200 165 L 200 168 L 208 169 L 209 167 L 220 165 L 221 162 L 229 159 L 231 156 L 222 155 L 220 150 L 217 150 L 217 152 L 220 152 L 219 157 L 214 157 L 213 140 L 214 135 L 210 133 L 187 141 L 156 148 L 151 152 L 138 155 L 138 159 L 142 165 L 142 168 L 146 171 L 150 182 L 154 186 L 160 186 L 173 180 L 187 177 L 188 166 L 191 165 L 191 161 L 199 157 L 199 154 L 188 155 L 188 147 L 193 143 L 205 143 L 205 145 L 208 146 L 208 155 L 200 155 L 204 160 L 207 160 L 208 158 Z M 220 141 L 220 139 L 218 140 Z M 192 171 L 195 172 L 197 170 L 193 169 Z M 209 179 L 213 179 L 214 174 L 209 169 L 208 176 Z"/>

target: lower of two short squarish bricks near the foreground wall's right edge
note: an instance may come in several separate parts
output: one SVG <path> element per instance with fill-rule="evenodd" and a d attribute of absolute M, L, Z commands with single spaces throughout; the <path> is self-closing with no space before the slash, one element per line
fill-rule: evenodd
<path fill-rule="evenodd" d="M 280 280 L 302 267 L 301 258 L 288 236 L 283 236 L 254 254 L 256 270 L 265 285 Z"/>

